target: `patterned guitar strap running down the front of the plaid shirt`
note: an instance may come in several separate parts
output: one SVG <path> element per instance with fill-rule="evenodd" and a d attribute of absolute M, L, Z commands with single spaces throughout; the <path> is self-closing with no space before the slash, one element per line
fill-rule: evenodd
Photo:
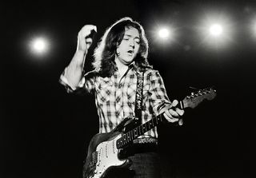
<path fill-rule="evenodd" d="M 143 99 L 144 72 L 137 72 L 137 89 L 135 97 L 135 119 L 142 124 L 142 99 Z"/>

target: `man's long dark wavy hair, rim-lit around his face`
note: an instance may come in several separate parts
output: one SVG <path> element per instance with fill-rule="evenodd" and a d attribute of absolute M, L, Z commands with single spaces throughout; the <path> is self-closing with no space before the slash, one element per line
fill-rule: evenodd
<path fill-rule="evenodd" d="M 150 67 L 147 61 L 149 45 L 143 27 L 131 18 L 122 18 L 106 30 L 98 46 L 94 49 L 93 66 L 102 77 L 112 76 L 117 69 L 114 61 L 116 49 L 122 42 L 126 28 L 131 27 L 138 30 L 140 37 L 138 54 L 134 59 L 135 67 L 140 71 Z"/>

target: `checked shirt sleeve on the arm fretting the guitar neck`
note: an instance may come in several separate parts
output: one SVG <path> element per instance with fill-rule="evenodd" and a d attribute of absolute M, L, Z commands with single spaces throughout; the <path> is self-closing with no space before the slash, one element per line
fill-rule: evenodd
<path fill-rule="evenodd" d="M 150 76 L 150 101 L 154 113 L 159 114 L 160 109 L 170 105 L 169 97 L 166 93 L 166 87 L 158 71 L 154 71 Z"/>

